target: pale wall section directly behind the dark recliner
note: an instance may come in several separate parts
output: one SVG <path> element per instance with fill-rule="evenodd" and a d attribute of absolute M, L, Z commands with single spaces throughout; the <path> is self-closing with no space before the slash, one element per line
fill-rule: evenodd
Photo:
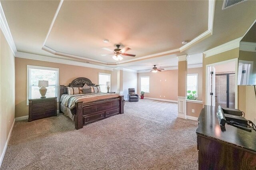
<path fill-rule="evenodd" d="M 136 94 L 138 94 L 138 73 L 132 73 L 123 71 L 123 95 L 127 98 L 128 88 L 134 88 Z M 140 95 L 140 94 L 139 94 Z"/>

